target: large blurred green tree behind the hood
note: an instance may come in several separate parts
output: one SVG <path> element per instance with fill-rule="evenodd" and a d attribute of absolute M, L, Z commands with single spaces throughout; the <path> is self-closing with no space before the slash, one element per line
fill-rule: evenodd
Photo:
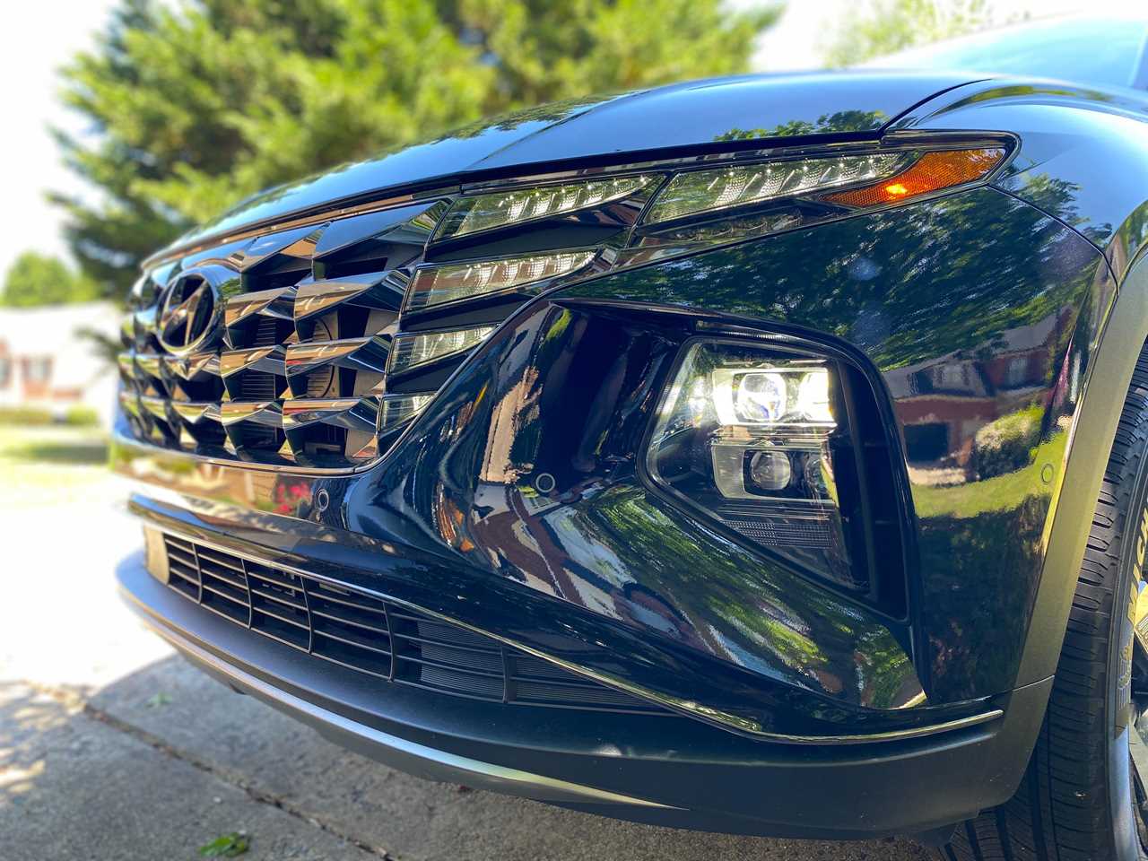
<path fill-rule="evenodd" d="M 779 14 L 721 0 L 122 0 L 64 70 L 57 195 L 84 271 L 139 261 L 262 188 L 591 92 L 737 72 Z"/>

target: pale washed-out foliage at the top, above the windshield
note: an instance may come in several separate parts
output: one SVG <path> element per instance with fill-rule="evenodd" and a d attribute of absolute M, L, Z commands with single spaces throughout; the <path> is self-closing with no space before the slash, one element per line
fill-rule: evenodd
<path fill-rule="evenodd" d="M 915 45 L 984 29 L 988 0 L 868 0 L 845 16 L 825 51 L 825 65 L 854 65 Z"/>

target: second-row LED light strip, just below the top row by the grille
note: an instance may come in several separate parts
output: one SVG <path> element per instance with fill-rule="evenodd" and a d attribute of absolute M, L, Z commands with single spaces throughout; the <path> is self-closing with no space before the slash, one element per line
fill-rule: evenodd
<path fill-rule="evenodd" d="M 557 251 L 421 267 L 406 290 L 404 310 L 444 305 L 568 276 L 588 266 L 596 254 L 597 249 Z"/>

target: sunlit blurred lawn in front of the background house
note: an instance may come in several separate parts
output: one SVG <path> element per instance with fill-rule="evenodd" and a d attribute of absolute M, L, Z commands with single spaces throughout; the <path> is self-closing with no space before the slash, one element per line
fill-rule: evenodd
<path fill-rule="evenodd" d="M 115 480 L 99 428 L 0 425 L 0 509 L 107 497 Z"/>

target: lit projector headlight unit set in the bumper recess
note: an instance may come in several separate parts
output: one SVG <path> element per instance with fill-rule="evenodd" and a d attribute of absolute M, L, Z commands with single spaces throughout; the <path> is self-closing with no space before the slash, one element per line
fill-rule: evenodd
<path fill-rule="evenodd" d="M 837 487 L 839 461 L 853 468 L 839 373 L 827 357 L 697 341 L 659 410 L 646 470 L 742 537 L 866 588 Z"/>

